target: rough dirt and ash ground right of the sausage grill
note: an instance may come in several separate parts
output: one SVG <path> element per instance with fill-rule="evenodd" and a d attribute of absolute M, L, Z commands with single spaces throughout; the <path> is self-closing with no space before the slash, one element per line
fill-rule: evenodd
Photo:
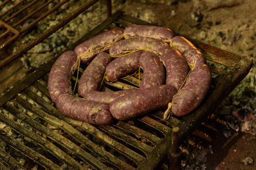
<path fill-rule="evenodd" d="M 129 15 L 253 58 L 250 73 L 205 122 L 210 126 L 200 128 L 207 138 L 193 135 L 181 148 L 183 169 L 256 169 L 256 1 L 144 0 L 125 5 Z"/>

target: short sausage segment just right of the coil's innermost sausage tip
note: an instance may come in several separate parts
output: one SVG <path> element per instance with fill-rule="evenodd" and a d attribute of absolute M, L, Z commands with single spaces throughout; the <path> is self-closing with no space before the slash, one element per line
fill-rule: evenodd
<path fill-rule="evenodd" d="M 158 56 L 151 52 L 143 52 L 139 58 L 139 66 L 142 68 L 144 77 L 139 89 L 164 84 L 166 73 Z"/>

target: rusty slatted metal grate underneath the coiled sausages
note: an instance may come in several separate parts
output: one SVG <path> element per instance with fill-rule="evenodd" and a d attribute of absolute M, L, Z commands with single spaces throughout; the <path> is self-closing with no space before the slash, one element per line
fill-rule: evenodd
<path fill-rule="evenodd" d="M 76 45 L 98 33 L 113 28 L 122 30 L 129 24 L 149 23 L 118 11 L 67 50 L 75 49 Z M 252 64 L 247 57 L 236 56 L 203 42 L 192 42 L 207 57 L 213 81 L 204 102 L 188 116 L 172 116 L 162 121 L 163 112 L 158 111 L 130 121 L 115 121 L 109 126 L 90 125 L 64 117 L 55 108 L 47 90 L 48 73 L 57 59 L 54 58 L 0 98 L 0 121 L 16 133 L 29 138 L 44 152 L 39 153 L 34 145 L 24 146 L 3 131 L 0 131 L 0 140 L 47 169 L 60 169 L 63 164 L 71 169 L 155 168 L 170 152 L 177 151 L 177 146 L 192 134 L 249 73 Z M 84 69 L 80 69 L 80 75 Z M 131 87 L 138 87 L 138 78 L 135 76 L 122 82 L 105 84 L 101 90 Z M 27 116 L 28 112 L 34 116 Z M 55 125 L 58 131 L 47 128 L 47 125 Z M 179 128 L 177 135 L 174 127 Z M 12 155 L 3 150 L 0 150 L 0 158 L 3 161 L 0 165 L 24 169 Z"/>

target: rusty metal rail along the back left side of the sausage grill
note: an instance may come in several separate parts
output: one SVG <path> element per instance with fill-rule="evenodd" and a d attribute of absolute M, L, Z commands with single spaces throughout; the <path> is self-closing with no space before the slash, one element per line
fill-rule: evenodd
<path fill-rule="evenodd" d="M 117 19 L 119 16 L 123 15 L 123 13 L 124 13 L 123 11 L 115 12 L 115 14 L 110 16 L 110 18 L 106 19 L 100 25 L 98 25 L 97 27 L 92 29 L 92 31 L 88 32 L 85 36 L 83 36 L 81 39 L 76 41 L 75 44 L 73 44 L 72 46 L 69 46 L 67 49 L 65 49 L 60 54 L 64 53 L 67 50 L 72 50 L 73 46 L 76 46 L 76 45 L 80 44 L 81 42 L 96 36 L 104 28 L 106 28 L 110 23 L 112 23 L 115 19 Z M 40 79 L 42 76 L 47 74 L 48 71 L 51 69 L 53 63 L 60 56 L 60 54 L 57 57 L 53 58 L 51 61 L 47 62 L 42 67 L 40 67 L 38 70 L 36 70 L 34 73 L 32 73 L 28 78 L 24 79 L 21 83 L 17 84 L 14 88 L 7 91 L 3 96 L 1 96 L 0 97 L 0 107 L 2 107 L 2 105 L 5 104 L 7 101 L 11 100 L 14 96 L 18 95 L 19 92 L 23 91 L 25 88 L 30 86 L 36 80 Z"/>

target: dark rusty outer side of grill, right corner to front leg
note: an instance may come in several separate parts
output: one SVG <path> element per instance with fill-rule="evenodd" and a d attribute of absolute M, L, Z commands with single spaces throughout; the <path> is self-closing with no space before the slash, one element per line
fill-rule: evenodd
<path fill-rule="evenodd" d="M 210 96 L 203 101 L 198 109 L 185 116 L 177 125 L 180 129 L 178 143 L 181 145 L 185 139 L 221 104 L 221 102 L 236 88 L 249 73 L 253 59 L 241 58 L 232 69 L 213 88 Z"/>

